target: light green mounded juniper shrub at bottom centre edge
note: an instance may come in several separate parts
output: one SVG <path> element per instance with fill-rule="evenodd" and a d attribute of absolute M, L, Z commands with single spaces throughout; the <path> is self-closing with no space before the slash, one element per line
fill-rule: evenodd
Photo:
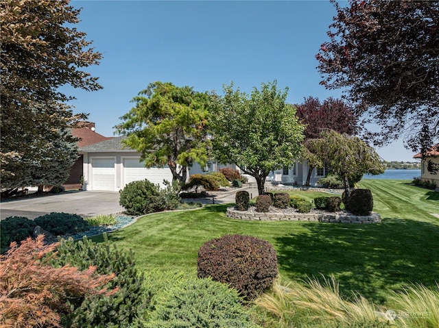
<path fill-rule="evenodd" d="M 212 279 L 184 279 L 159 297 L 145 327 L 256 328 L 236 290 Z"/>

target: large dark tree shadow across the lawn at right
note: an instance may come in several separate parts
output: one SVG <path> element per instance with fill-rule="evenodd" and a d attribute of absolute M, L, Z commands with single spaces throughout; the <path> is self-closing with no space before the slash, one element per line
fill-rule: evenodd
<path fill-rule="evenodd" d="M 383 303 L 391 290 L 439 282 L 439 226 L 388 218 L 380 225 L 305 226 L 306 233 L 275 238 L 287 278 L 334 275 L 340 291 Z"/>

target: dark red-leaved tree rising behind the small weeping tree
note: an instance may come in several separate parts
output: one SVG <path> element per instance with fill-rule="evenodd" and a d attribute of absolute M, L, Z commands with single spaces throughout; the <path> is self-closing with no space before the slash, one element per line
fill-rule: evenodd
<path fill-rule="evenodd" d="M 308 97 L 300 105 L 296 105 L 296 115 L 300 121 L 307 125 L 305 129 L 305 154 L 309 166 L 307 181 L 305 185 L 309 186 L 311 173 L 316 166 L 322 166 L 324 163 L 315 155 L 311 139 L 320 138 L 320 134 L 325 130 L 334 130 L 339 134 L 353 136 L 359 131 L 357 118 L 353 113 L 353 107 L 341 99 L 329 97 L 321 102 L 318 98 Z"/>

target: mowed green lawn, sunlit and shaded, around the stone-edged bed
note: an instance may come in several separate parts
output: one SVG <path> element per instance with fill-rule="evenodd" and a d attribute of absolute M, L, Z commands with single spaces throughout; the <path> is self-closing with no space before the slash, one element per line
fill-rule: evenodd
<path fill-rule="evenodd" d="M 198 249 L 204 242 L 225 234 L 248 234 L 274 245 L 283 279 L 333 276 L 342 294 L 351 295 L 354 290 L 378 304 L 385 304 L 392 291 L 410 283 L 435 288 L 439 219 L 431 213 L 439 213 L 439 193 L 398 180 L 361 181 L 359 187 L 372 190 L 374 211 L 381 214 L 383 223 L 241 221 L 226 218 L 227 205 L 209 205 L 143 216 L 109 239 L 133 249 L 141 270 L 195 275 Z M 310 199 L 320 195 L 299 194 Z"/>

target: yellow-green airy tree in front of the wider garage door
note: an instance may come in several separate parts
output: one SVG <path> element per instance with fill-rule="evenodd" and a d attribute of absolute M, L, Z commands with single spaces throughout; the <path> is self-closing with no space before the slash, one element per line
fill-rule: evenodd
<path fill-rule="evenodd" d="M 123 144 L 139 151 L 146 167 L 169 166 L 173 181 L 184 184 L 187 168 L 207 161 L 208 94 L 156 81 L 132 102 L 135 107 L 115 126 L 127 136 Z"/>

